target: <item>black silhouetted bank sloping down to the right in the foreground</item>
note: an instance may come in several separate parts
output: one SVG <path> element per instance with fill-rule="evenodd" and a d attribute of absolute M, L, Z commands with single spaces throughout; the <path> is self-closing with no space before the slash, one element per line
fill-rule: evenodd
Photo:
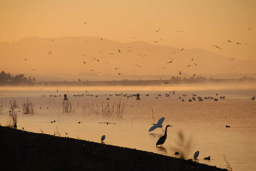
<path fill-rule="evenodd" d="M 136 149 L 0 126 L 0 170 L 224 171 Z"/>

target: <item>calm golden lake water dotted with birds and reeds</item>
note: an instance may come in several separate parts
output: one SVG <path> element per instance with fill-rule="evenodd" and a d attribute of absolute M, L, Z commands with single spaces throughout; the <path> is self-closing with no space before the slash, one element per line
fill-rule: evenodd
<path fill-rule="evenodd" d="M 233 170 L 256 169 L 256 100 L 251 100 L 251 97 L 256 95 L 256 89 L 203 86 L 169 86 L 164 89 L 150 86 L 70 87 L 68 101 L 72 104 L 71 113 L 63 113 L 62 103 L 67 88 L 59 88 L 58 93 L 56 89 L 55 87 L 44 87 L 41 90 L 2 87 L 0 103 L 5 104 L 5 111 L 9 111 L 10 100 L 18 101 L 20 108 L 17 109 L 20 110 L 18 129 L 24 127 L 24 130 L 36 133 L 41 133 L 42 130 L 45 134 L 51 135 L 59 131 L 61 136 L 98 143 L 101 142 L 101 136 L 106 135 L 105 144 L 181 157 L 174 155 L 174 152 L 178 151 L 183 153 L 185 159 L 192 159 L 198 150 L 199 156 L 196 160 L 193 159 L 194 161 L 220 168 L 226 168 L 226 162 L 223 160 L 225 154 Z M 86 94 L 85 89 L 87 94 L 93 96 L 73 96 L 73 94 Z M 169 93 L 172 90 L 175 90 L 174 95 Z M 115 96 L 115 93 L 128 95 L 140 93 L 141 100 L 136 100 L 136 97 Z M 166 93 L 170 94 L 170 97 L 165 97 Z M 219 95 L 216 96 L 216 93 Z M 149 96 L 147 97 L 146 94 Z M 158 94 L 162 96 L 156 99 Z M 183 94 L 187 97 L 182 96 Z M 188 99 L 192 98 L 193 94 L 203 97 L 203 101 L 199 102 L 196 98 L 196 101 L 189 102 Z M 42 95 L 45 97 L 41 97 Z M 61 95 L 61 97 L 49 97 L 49 95 Z M 185 101 L 182 102 L 179 96 Z M 208 96 L 216 97 L 218 101 L 204 99 Z M 220 99 L 220 96 L 226 98 Z M 110 99 L 107 100 L 107 97 Z M 28 99 L 36 106 L 34 115 L 22 113 L 21 101 Z M 122 118 L 116 118 L 119 102 L 121 108 L 124 104 Z M 102 116 L 102 106 L 105 108 L 107 104 L 109 109 L 113 105 L 115 107 L 111 117 Z M 86 106 L 85 110 L 83 106 Z M 168 124 L 173 126 L 167 129 L 167 138 L 162 148 L 156 147 L 158 138 L 164 134 L 161 128 L 148 132 L 153 123 L 152 109 L 156 122 L 165 117 L 163 128 Z M 6 126 L 8 119 L 8 113 L 1 114 L 1 125 Z M 53 120 L 56 122 L 51 123 Z M 107 125 L 99 122 L 116 124 Z M 231 127 L 226 128 L 225 125 Z M 211 156 L 211 160 L 204 160 L 204 157 L 208 156 Z"/>

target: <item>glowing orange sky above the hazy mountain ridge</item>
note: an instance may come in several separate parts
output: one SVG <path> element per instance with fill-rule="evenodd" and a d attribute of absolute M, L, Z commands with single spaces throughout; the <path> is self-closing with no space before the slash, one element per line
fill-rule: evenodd
<path fill-rule="evenodd" d="M 256 60 L 255 8 L 254 0 L 0 0 L 0 42 L 93 36 Z"/>

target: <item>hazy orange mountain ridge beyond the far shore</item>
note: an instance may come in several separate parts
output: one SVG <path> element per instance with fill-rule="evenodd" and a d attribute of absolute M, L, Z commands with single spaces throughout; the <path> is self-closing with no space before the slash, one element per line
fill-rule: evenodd
<path fill-rule="evenodd" d="M 119 43 L 90 36 L 28 37 L 15 43 L 1 42 L 0 56 L 1 70 L 13 74 L 29 74 L 37 78 L 37 81 L 63 81 L 65 78 L 75 81 L 77 78 L 72 79 L 75 76 L 90 81 L 106 80 L 106 77 L 109 77 L 108 80 L 132 79 L 132 75 L 173 75 L 188 78 L 193 74 L 252 74 L 256 71 L 256 61 L 242 61 L 235 57 L 232 57 L 235 60 L 229 60 L 202 49 L 181 51 L 157 43 Z M 170 61 L 172 63 L 167 63 Z M 180 71 L 182 74 L 179 74 Z"/>

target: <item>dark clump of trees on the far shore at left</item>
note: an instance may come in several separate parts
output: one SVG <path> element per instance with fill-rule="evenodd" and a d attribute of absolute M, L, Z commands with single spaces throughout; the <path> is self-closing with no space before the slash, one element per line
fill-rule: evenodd
<path fill-rule="evenodd" d="M 31 78 L 30 76 L 24 77 L 24 74 L 20 74 L 20 75 L 11 75 L 10 73 L 5 73 L 4 71 L 2 71 L 0 73 L 0 82 L 34 82 L 36 81 L 36 78 Z"/>

